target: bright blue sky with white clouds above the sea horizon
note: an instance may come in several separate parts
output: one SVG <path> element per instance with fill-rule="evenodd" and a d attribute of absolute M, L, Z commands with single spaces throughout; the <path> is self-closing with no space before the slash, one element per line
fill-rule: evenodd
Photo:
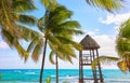
<path fill-rule="evenodd" d="M 75 41 L 80 42 L 86 34 L 90 34 L 101 46 L 99 50 L 100 56 L 107 55 L 117 57 L 115 41 L 120 24 L 130 17 L 129 9 L 125 9 L 116 13 L 109 13 L 104 10 L 88 5 L 86 0 L 58 0 L 58 3 L 73 11 L 74 15 L 72 19 L 78 20 L 81 25 L 81 30 L 84 31 L 84 34 L 74 36 Z M 40 4 L 39 0 L 36 0 L 35 4 L 39 10 L 29 12 L 27 14 L 31 14 L 40 18 L 44 15 L 43 6 Z M 37 27 L 30 28 L 35 30 L 37 29 Z M 25 41 L 23 41 L 22 44 L 26 46 Z M 48 49 L 46 69 L 54 69 L 55 65 L 50 64 L 48 59 L 49 51 L 50 50 Z M 60 60 L 60 68 L 78 69 L 78 51 L 76 51 L 76 54 L 77 58 L 73 59 L 74 64 Z M 21 58 L 17 52 L 14 49 L 10 49 L 0 36 L 0 69 L 40 69 L 41 56 L 38 63 L 34 63 L 31 57 L 28 58 L 27 63 L 24 63 L 24 59 Z M 103 68 L 116 69 L 117 67 L 115 64 L 103 65 Z"/>

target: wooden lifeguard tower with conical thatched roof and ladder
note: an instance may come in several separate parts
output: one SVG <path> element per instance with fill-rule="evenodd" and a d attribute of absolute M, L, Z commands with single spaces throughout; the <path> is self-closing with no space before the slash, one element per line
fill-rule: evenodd
<path fill-rule="evenodd" d="M 80 41 L 80 44 L 83 50 L 79 51 L 79 83 L 84 83 L 87 80 L 93 80 L 94 83 L 104 83 L 99 61 L 95 69 L 92 69 L 93 78 L 83 77 L 83 67 L 91 67 L 93 59 L 99 57 L 98 50 L 100 49 L 100 45 L 89 34 Z"/>

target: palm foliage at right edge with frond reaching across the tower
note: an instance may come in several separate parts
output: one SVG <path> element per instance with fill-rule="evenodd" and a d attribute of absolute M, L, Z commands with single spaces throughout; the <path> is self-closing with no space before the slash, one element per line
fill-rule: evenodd
<path fill-rule="evenodd" d="M 100 56 L 93 61 L 92 67 L 98 64 L 98 60 L 101 63 L 117 63 L 117 66 L 122 72 L 130 71 L 130 19 L 125 22 L 119 29 L 119 34 L 116 40 L 116 50 L 118 57 L 112 56 Z"/>

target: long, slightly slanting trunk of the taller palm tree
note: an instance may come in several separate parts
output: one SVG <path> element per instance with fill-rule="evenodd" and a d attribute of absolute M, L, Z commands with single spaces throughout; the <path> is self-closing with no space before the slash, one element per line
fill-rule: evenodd
<path fill-rule="evenodd" d="M 44 67 L 44 60 L 46 60 L 46 51 L 47 51 L 47 38 L 46 38 L 44 47 L 43 47 L 43 57 L 42 57 L 39 83 L 42 83 L 43 67 Z"/>

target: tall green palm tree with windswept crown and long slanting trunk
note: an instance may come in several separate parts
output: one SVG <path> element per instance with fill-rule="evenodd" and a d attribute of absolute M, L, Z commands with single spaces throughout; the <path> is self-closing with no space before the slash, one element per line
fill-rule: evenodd
<path fill-rule="evenodd" d="M 40 83 L 42 83 L 47 44 L 49 44 L 50 49 L 54 51 L 55 46 L 62 47 L 61 41 L 64 43 L 69 41 L 70 44 L 73 43 L 70 47 L 75 46 L 79 49 L 79 45 L 76 42 L 68 40 L 68 38 L 72 38 L 73 34 L 82 33 L 82 31 L 79 30 L 80 25 L 76 20 L 68 19 L 72 15 L 73 13 L 65 6 L 56 5 L 54 10 L 47 9 L 46 15 L 38 20 L 38 27 L 43 33 L 43 39 L 39 40 L 40 45 L 38 43 L 30 43 L 28 52 L 32 51 L 32 58 L 37 61 L 39 54 L 42 51 L 41 49 L 43 47 L 43 58 L 39 80 Z M 40 50 L 37 49 L 37 44 Z M 65 49 L 63 51 L 65 51 Z M 75 55 L 72 54 L 72 56 Z M 69 57 L 66 58 L 70 60 Z"/>

